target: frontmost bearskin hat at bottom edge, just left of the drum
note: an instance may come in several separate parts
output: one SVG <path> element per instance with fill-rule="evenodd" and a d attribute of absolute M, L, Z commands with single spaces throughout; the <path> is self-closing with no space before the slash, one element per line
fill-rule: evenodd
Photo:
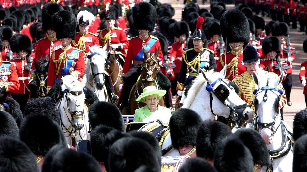
<path fill-rule="evenodd" d="M 120 138 L 109 151 L 109 171 L 134 171 L 146 165 L 153 171 L 161 170 L 156 152 L 140 138 Z"/>

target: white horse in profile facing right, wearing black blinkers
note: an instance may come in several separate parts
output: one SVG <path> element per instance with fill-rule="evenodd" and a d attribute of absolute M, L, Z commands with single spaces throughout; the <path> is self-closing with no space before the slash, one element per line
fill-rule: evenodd
<path fill-rule="evenodd" d="M 241 126 L 244 121 L 247 123 L 251 122 L 253 119 L 252 109 L 237 95 L 235 89 L 229 85 L 230 82 L 225 79 L 226 67 L 224 67 L 221 72 L 214 72 L 213 70 L 207 72 L 201 71 L 203 75 L 197 76 L 194 80 L 182 107 L 194 110 L 199 114 L 202 120 L 213 120 L 215 117 L 214 114 L 216 114 L 223 117 L 230 117 L 230 115 L 232 115 L 239 126 Z M 211 92 L 207 91 L 207 88 L 210 87 L 208 85 L 212 86 Z M 217 91 L 219 91 L 219 93 Z M 223 95 L 222 92 L 225 93 L 225 95 Z M 211 100 L 210 94 L 213 98 Z M 215 94 L 221 95 L 223 98 L 218 98 Z M 241 121 L 242 124 L 239 123 L 239 121 Z M 150 126 L 152 125 L 148 125 L 146 128 L 142 128 L 142 130 L 147 130 Z M 162 143 L 161 149 L 167 149 L 170 144 L 171 138 L 170 133 L 168 133 Z M 171 149 L 164 156 L 178 155 L 178 150 Z"/>

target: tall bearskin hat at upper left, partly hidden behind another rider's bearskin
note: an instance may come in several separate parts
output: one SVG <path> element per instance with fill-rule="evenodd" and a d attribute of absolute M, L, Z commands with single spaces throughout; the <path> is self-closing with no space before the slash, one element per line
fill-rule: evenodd
<path fill-rule="evenodd" d="M 55 13 L 64 10 L 64 8 L 53 2 L 46 3 L 42 8 L 42 29 L 47 32 L 48 29 L 53 29 L 52 17 Z"/>

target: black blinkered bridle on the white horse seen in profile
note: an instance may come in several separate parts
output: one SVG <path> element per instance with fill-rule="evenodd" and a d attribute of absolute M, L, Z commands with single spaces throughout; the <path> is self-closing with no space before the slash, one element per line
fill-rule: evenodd
<path fill-rule="evenodd" d="M 220 84 L 219 86 L 217 86 L 217 88 L 213 88 L 218 82 L 224 82 L 226 86 L 228 86 L 229 88 L 227 88 L 225 85 Z M 232 123 L 234 124 L 235 128 L 238 128 L 239 126 L 241 126 L 243 124 L 243 121 L 240 121 L 240 118 L 243 118 L 242 116 L 239 117 L 238 113 L 236 113 L 236 110 L 242 109 L 240 112 L 243 111 L 244 108 L 248 107 L 248 104 L 242 104 L 242 105 L 238 105 L 238 106 L 230 106 L 228 105 L 225 100 L 227 99 L 227 97 L 229 96 L 229 90 L 231 89 L 233 90 L 233 88 L 231 88 L 229 86 L 229 84 L 227 84 L 225 81 L 223 81 L 223 78 L 218 78 L 217 80 L 215 80 L 212 84 L 209 84 L 206 86 L 206 90 L 209 91 L 210 93 L 210 110 L 211 113 L 213 115 L 216 115 L 213 112 L 213 108 L 212 108 L 212 100 L 213 100 L 213 96 L 212 93 L 220 100 L 220 102 L 222 102 L 226 107 L 228 107 L 230 109 L 230 118 Z M 228 95 L 227 95 L 228 94 Z"/>

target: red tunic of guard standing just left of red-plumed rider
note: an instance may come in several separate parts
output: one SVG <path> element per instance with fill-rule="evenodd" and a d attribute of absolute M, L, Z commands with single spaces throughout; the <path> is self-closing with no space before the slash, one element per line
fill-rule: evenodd
<path fill-rule="evenodd" d="M 186 43 L 175 42 L 170 49 L 171 60 L 174 61 L 174 64 L 176 65 L 176 68 L 174 69 L 176 74 L 179 74 L 183 48 L 186 46 Z"/>

